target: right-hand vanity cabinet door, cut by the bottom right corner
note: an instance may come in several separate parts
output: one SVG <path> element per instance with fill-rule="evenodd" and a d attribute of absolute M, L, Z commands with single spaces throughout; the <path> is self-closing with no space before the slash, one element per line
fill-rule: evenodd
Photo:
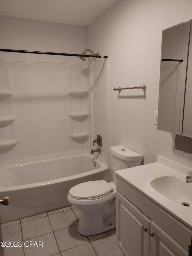
<path fill-rule="evenodd" d="M 167 235 L 160 227 L 151 221 L 151 254 L 150 256 L 186 256 L 185 251 L 178 243 Z"/>

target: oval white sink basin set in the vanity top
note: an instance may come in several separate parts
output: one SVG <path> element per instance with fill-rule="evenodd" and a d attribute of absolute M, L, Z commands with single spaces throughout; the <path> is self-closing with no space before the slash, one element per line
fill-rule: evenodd
<path fill-rule="evenodd" d="M 192 206 L 192 185 L 173 176 L 163 176 L 150 182 L 152 188 L 168 199 Z"/>

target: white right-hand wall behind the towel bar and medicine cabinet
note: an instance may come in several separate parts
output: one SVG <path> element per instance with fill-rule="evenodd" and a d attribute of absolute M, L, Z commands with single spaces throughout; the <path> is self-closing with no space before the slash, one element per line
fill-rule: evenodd
<path fill-rule="evenodd" d="M 189 154 L 173 149 L 174 135 L 153 124 L 158 110 L 162 30 L 189 20 L 191 0 L 120 0 L 88 27 L 88 47 L 109 57 L 109 142 L 144 157 L 157 155 L 192 165 Z M 147 85 L 143 90 L 114 87 Z"/>

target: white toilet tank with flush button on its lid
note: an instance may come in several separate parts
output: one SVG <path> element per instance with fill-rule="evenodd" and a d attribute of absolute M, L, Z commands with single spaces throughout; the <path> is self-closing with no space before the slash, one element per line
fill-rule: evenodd
<path fill-rule="evenodd" d="M 115 171 L 141 165 L 143 155 L 118 145 L 111 147 L 113 182 L 116 183 Z"/>

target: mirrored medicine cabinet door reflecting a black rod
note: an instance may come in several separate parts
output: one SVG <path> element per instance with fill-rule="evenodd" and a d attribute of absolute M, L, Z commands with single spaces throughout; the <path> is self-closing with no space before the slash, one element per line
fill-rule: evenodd
<path fill-rule="evenodd" d="M 185 97 L 186 77 L 188 82 L 192 81 L 192 75 L 188 77 L 187 74 L 189 36 L 190 20 L 162 32 L 158 129 L 179 135 L 182 135 L 183 127 L 187 127 L 187 122 L 186 125 L 183 123 L 189 118 L 186 101 L 189 101 L 187 108 L 192 109 L 192 98 Z M 192 88 L 190 92 L 192 94 Z M 190 132 L 192 137 L 192 129 Z"/>

